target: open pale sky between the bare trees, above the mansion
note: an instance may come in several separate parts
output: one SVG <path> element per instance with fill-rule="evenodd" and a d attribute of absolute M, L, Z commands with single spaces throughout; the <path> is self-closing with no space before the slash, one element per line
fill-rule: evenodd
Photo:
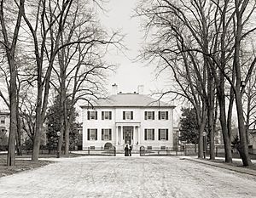
<path fill-rule="evenodd" d="M 140 31 L 140 19 L 131 18 L 136 8 L 136 0 L 110 0 L 104 5 L 108 13 L 100 14 L 102 25 L 108 30 L 121 30 L 125 35 L 124 44 L 129 50 L 125 54 L 111 52 L 107 60 L 119 65 L 115 74 L 109 76 L 107 88 L 111 91 L 111 85 L 116 83 L 119 91 L 123 93 L 137 92 L 138 85 L 144 85 L 144 93 L 163 86 L 160 79 L 155 79 L 154 66 L 146 65 L 146 62 L 135 62 L 142 48 L 143 32 Z"/>

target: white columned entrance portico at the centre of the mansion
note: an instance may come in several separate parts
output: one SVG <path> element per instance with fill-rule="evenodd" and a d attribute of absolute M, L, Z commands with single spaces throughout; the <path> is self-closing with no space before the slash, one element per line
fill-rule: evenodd
<path fill-rule="evenodd" d="M 125 144 L 131 144 L 133 150 L 138 150 L 141 136 L 140 122 L 116 122 L 115 145 L 117 150 L 124 150 Z"/>

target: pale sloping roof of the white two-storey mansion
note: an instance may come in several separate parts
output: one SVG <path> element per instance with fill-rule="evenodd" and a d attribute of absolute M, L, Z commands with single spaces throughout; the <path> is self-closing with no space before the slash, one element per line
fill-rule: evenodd
<path fill-rule="evenodd" d="M 94 107 L 167 107 L 174 108 L 165 102 L 138 93 L 119 93 L 111 95 L 108 99 L 98 99 L 93 103 Z M 82 105 L 82 108 L 88 106 Z"/>

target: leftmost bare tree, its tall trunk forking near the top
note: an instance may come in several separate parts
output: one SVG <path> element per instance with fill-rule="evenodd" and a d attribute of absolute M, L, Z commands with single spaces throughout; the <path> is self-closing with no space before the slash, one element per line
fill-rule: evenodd
<path fill-rule="evenodd" d="M 18 42 L 18 36 L 20 31 L 21 14 L 24 9 L 25 0 L 15 1 L 16 16 L 15 16 L 15 27 L 9 28 L 5 18 L 5 14 L 8 14 L 10 10 L 6 1 L 0 2 L 0 22 L 1 32 L 3 40 L 1 44 L 5 48 L 5 55 L 8 59 L 9 65 L 9 109 L 10 109 L 10 130 L 9 130 L 9 149 L 7 157 L 7 165 L 15 165 L 15 134 L 17 133 L 17 68 L 15 65 L 15 52 Z"/>

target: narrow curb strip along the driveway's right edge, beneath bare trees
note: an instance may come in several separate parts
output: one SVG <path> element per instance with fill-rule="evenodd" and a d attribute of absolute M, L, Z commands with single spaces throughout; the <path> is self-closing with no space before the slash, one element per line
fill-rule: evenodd
<path fill-rule="evenodd" d="M 244 173 L 244 174 L 249 174 L 249 175 L 256 176 L 256 171 L 254 171 L 252 169 L 248 169 L 246 167 L 235 167 L 235 166 L 233 167 L 233 166 L 230 166 L 228 164 L 220 164 L 218 162 L 194 159 L 194 158 L 191 158 L 191 157 L 181 157 L 180 159 L 195 161 L 195 162 L 206 164 L 206 165 L 209 165 L 209 166 L 212 166 L 212 167 L 220 167 L 220 168 L 224 168 L 224 169 L 227 169 L 227 170 L 230 170 L 230 171 L 235 171 L 237 173 Z"/>

